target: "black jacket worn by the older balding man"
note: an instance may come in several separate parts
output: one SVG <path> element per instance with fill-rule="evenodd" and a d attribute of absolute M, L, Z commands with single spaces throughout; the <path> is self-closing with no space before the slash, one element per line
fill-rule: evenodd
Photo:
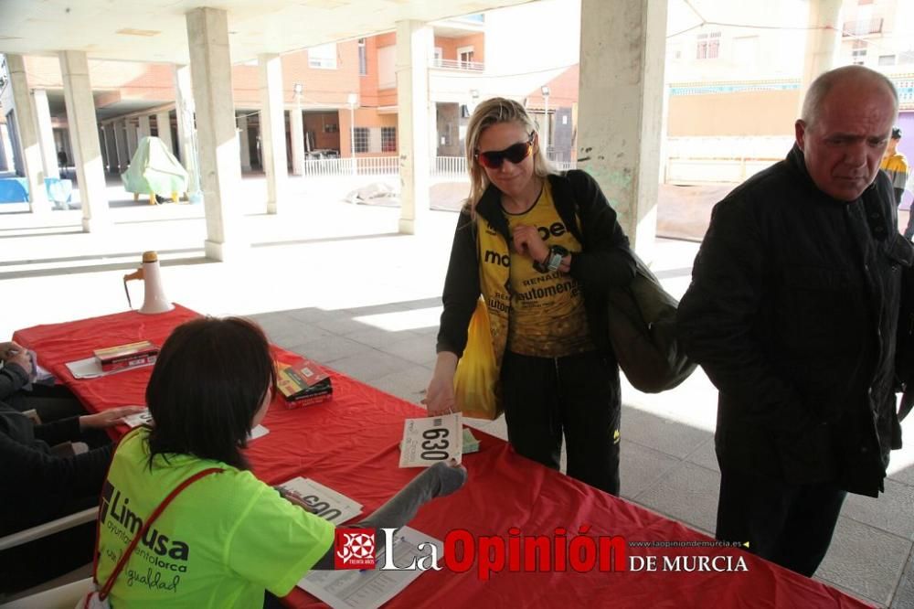
<path fill-rule="evenodd" d="M 912 257 L 887 176 L 838 201 L 797 146 L 717 204 L 677 321 L 719 390 L 721 467 L 883 490 L 901 445 L 895 338 Z"/>

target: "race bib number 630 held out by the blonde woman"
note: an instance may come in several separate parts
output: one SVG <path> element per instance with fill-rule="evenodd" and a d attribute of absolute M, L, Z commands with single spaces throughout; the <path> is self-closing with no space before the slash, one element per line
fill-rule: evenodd
<path fill-rule="evenodd" d="M 439 461 L 461 462 L 463 425 L 460 412 L 403 422 L 400 467 L 428 467 Z"/>

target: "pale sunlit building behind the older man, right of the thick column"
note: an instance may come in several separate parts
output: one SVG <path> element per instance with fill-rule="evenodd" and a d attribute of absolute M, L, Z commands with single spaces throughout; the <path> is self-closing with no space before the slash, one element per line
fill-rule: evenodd
<path fill-rule="evenodd" d="M 740 182 L 781 159 L 799 116 L 809 3 L 670 3 L 667 182 Z M 914 3 L 845 0 L 835 64 L 887 75 L 914 157 Z M 911 200 L 907 194 L 905 201 Z"/>

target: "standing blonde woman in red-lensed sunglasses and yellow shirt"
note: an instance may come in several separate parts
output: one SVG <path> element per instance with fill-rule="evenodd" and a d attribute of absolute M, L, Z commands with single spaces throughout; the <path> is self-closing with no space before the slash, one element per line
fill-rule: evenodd
<path fill-rule="evenodd" d="M 635 264 L 597 183 L 559 174 L 519 103 L 479 104 L 467 125 L 470 197 L 444 283 L 438 359 L 425 403 L 457 410 L 453 379 L 483 295 L 508 441 L 518 454 L 619 494 L 619 367 L 606 297 Z"/>

